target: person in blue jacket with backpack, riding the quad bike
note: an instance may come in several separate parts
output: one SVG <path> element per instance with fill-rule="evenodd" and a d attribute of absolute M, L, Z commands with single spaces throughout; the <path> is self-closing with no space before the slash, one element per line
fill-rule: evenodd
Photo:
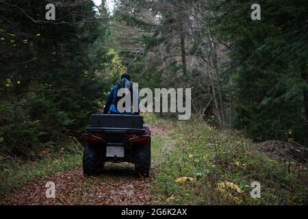
<path fill-rule="evenodd" d="M 125 98 L 123 96 L 123 94 L 129 95 L 130 92 L 130 99 L 129 105 L 125 105 L 125 103 L 123 105 L 119 105 L 119 101 L 122 98 Z M 103 114 L 108 114 L 108 112 L 110 112 L 110 114 L 132 114 L 132 110 L 131 110 L 131 106 L 133 105 L 133 99 L 138 99 L 138 93 L 136 91 L 135 88 L 133 88 L 132 83 L 130 81 L 130 76 L 125 73 L 121 76 L 120 81 L 118 82 L 118 84 L 116 84 L 116 86 L 114 86 L 112 88 L 112 90 L 110 91 L 110 94 L 107 97 L 106 103 L 105 103 L 105 107 L 103 110 Z M 139 102 L 139 101 L 138 101 Z M 118 107 L 122 107 L 121 109 L 118 109 Z M 123 108 L 124 107 L 124 108 Z M 137 106 L 138 110 L 136 110 L 136 114 L 139 114 L 139 107 Z"/>

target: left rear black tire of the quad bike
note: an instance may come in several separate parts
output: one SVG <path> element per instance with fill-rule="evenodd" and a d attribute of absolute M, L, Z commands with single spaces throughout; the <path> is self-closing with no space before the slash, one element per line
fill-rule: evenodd
<path fill-rule="evenodd" d="M 101 161 L 101 151 L 94 146 L 84 147 L 84 156 L 82 158 L 82 168 L 84 175 L 94 176 L 99 173 L 100 168 L 105 162 Z"/>

